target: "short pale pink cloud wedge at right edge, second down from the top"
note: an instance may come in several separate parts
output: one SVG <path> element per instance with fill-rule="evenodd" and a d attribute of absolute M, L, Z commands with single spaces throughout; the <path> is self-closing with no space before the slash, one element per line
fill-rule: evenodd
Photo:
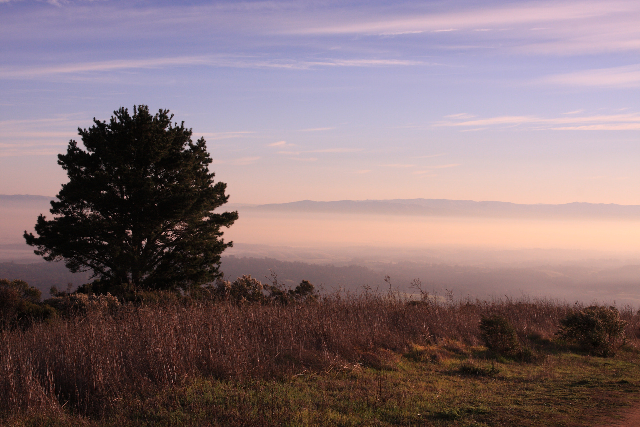
<path fill-rule="evenodd" d="M 570 86 L 638 87 L 640 86 L 640 64 L 556 74 L 540 81 Z"/>

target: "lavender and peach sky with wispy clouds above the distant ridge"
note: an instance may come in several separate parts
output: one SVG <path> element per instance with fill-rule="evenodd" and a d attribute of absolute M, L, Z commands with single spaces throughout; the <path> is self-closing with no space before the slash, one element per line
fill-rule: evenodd
<path fill-rule="evenodd" d="M 0 193 L 170 109 L 230 202 L 640 204 L 638 1 L 0 0 Z"/>

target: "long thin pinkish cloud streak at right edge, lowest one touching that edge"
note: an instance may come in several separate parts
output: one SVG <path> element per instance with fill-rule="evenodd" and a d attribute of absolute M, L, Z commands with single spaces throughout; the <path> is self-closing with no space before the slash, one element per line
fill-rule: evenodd
<path fill-rule="evenodd" d="M 543 118 L 536 116 L 499 116 L 466 120 L 463 122 L 440 122 L 440 126 L 473 127 L 475 129 L 513 128 L 523 129 L 554 129 L 554 130 L 584 130 L 584 131 L 627 131 L 640 129 L 640 113 L 612 114 L 612 115 L 563 115 L 563 117 Z"/>

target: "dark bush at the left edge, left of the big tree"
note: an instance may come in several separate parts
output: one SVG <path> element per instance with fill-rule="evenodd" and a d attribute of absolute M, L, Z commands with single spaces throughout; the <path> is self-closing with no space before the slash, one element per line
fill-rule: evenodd
<path fill-rule="evenodd" d="M 54 316 L 54 309 L 40 303 L 41 294 L 24 280 L 0 279 L 0 328 L 26 328 Z"/>

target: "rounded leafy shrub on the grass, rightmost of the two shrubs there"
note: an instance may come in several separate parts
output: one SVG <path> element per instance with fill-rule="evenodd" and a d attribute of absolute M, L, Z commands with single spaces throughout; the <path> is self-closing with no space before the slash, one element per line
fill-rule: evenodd
<path fill-rule="evenodd" d="M 616 307 L 591 305 L 574 311 L 560 321 L 559 337 L 575 342 L 582 348 L 602 357 L 616 354 L 624 341 L 621 335 L 627 322 L 620 319 Z"/>

